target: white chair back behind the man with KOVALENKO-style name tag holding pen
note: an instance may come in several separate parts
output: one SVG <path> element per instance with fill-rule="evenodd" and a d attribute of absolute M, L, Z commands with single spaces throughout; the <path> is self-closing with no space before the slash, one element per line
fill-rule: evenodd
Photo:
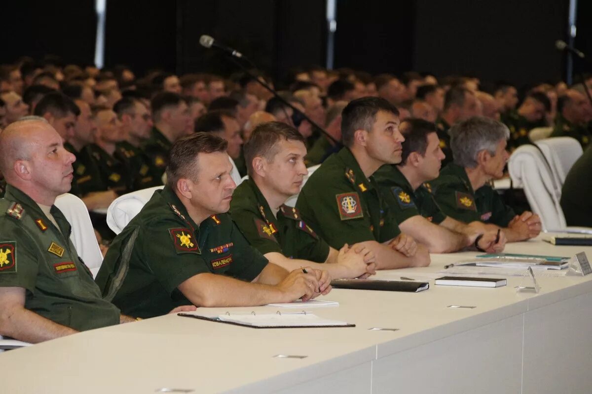
<path fill-rule="evenodd" d="M 107 210 L 107 224 L 109 228 L 115 234 L 121 233 L 121 230 L 127 226 L 127 223 L 130 223 L 130 220 L 134 219 L 144 205 L 152 198 L 152 194 L 163 187 L 149 187 L 115 198 Z"/>

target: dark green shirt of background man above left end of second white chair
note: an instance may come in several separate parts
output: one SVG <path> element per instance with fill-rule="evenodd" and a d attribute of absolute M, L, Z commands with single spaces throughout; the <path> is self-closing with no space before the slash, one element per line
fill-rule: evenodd
<path fill-rule="evenodd" d="M 96 167 L 99 169 L 101 181 L 107 190 L 115 191 L 117 194 L 126 194 L 130 191 L 131 177 L 123 161 L 108 154 L 96 144 L 86 146 L 85 149 L 91 153 Z"/>

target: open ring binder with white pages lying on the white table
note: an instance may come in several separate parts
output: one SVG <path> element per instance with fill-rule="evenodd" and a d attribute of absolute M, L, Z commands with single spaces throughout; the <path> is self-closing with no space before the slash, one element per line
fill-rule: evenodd
<path fill-rule="evenodd" d="M 182 317 L 192 317 L 200 320 L 214 321 L 215 323 L 226 323 L 242 325 L 252 328 L 314 328 L 314 327 L 355 327 L 345 321 L 329 320 L 317 316 L 311 312 L 275 312 L 250 314 L 222 314 L 208 316 L 198 312 L 179 313 Z"/>

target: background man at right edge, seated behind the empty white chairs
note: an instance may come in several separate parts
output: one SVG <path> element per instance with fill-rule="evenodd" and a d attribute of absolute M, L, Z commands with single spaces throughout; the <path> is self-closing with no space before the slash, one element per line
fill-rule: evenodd
<path fill-rule="evenodd" d="M 587 98 L 574 89 L 569 89 L 557 100 L 557 118 L 552 137 L 572 137 L 580 141 L 585 149 L 592 141 L 588 122 L 592 118 Z"/>

